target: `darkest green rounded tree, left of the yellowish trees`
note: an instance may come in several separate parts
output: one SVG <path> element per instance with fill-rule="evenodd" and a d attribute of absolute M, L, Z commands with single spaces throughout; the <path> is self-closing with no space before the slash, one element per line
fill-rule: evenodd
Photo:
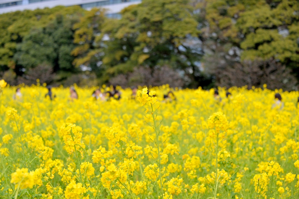
<path fill-rule="evenodd" d="M 25 73 L 40 64 L 50 65 L 57 73 L 58 80 L 77 72 L 71 55 L 76 47 L 73 30 L 76 22 L 77 17 L 57 14 L 45 27 L 32 29 L 17 45 L 14 55 L 16 65 L 23 67 Z"/>

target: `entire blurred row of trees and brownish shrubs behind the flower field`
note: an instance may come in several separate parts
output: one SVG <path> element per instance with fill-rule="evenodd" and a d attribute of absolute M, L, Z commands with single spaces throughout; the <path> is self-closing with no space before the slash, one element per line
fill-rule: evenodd
<path fill-rule="evenodd" d="M 121 19 L 78 6 L 6 13 L 0 75 L 10 84 L 43 69 L 44 82 L 65 86 L 297 89 L 298 10 L 297 0 L 143 0 Z"/>

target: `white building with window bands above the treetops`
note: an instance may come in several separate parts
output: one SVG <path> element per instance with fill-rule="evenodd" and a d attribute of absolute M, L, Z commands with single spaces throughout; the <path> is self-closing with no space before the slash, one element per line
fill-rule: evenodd
<path fill-rule="evenodd" d="M 141 0 L 0 0 L 0 14 L 17 10 L 51 8 L 58 5 L 80 5 L 87 10 L 90 10 L 92 7 L 104 7 L 107 9 L 108 16 L 118 18 L 118 13 L 124 7 L 140 2 Z"/>

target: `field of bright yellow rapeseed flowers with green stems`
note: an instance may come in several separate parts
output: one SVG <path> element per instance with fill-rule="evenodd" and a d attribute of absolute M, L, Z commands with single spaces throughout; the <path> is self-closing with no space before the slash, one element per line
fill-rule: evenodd
<path fill-rule="evenodd" d="M 299 197 L 297 91 L 0 87 L 0 198 Z"/>

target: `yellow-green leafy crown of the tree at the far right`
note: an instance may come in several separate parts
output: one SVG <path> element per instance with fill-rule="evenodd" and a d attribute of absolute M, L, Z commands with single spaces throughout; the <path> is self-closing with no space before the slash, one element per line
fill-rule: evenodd
<path fill-rule="evenodd" d="M 242 60 L 273 57 L 298 65 L 298 1 L 213 0 L 202 8 L 211 31 L 244 50 Z"/>

